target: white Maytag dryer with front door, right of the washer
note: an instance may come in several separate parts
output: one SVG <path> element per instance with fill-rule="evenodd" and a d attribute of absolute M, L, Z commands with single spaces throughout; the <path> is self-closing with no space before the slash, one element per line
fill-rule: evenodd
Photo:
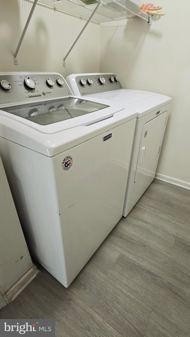
<path fill-rule="evenodd" d="M 134 109 L 137 113 L 134 144 L 123 216 L 131 211 L 154 180 L 171 97 L 147 91 L 123 89 L 112 73 L 72 74 L 66 82 L 77 96 L 101 98 Z"/>

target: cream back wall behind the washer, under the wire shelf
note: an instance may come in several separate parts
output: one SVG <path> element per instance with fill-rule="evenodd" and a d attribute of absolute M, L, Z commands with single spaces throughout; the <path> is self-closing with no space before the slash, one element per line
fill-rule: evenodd
<path fill-rule="evenodd" d="M 66 59 L 86 21 L 61 11 L 37 4 L 28 30 L 13 62 L 22 29 L 32 2 L 27 0 L 0 1 L 0 71 L 56 71 L 64 77 L 73 72 L 99 71 L 100 25 L 90 23 Z"/>

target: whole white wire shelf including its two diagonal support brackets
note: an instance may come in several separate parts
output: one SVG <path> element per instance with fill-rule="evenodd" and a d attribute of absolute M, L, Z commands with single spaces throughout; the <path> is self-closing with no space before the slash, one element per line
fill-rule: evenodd
<path fill-rule="evenodd" d="M 140 10 L 138 6 L 132 3 L 130 0 L 34 0 L 26 25 L 13 56 L 16 65 L 18 64 L 17 54 L 37 3 L 87 20 L 83 29 L 72 44 L 69 52 L 63 58 L 63 66 L 65 66 L 65 59 L 72 51 L 74 45 L 90 21 L 101 23 L 124 19 L 134 19 L 139 17 L 145 20 L 148 24 L 152 24 L 152 17 Z"/>

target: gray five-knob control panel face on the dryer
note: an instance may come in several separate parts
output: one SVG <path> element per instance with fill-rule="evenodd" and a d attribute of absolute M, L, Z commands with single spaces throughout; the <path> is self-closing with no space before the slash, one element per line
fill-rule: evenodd
<path fill-rule="evenodd" d="M 123 89 L 114 74 L 84 74 L 76 76 L 76 83 L 81 96 Z"/>

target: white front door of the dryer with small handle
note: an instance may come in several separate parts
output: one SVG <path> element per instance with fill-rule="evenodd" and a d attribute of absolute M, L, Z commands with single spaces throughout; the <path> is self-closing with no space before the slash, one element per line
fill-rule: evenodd
<path fill-rule="evenodd" d="M 144 178 L 146 177 L 147 180 L 153 180 L 155 177 L 166 120 L 167 111 L 145 123 L 143 126 L 135 183 L 139 182 L 142 176 L 144 176 Z"/>

